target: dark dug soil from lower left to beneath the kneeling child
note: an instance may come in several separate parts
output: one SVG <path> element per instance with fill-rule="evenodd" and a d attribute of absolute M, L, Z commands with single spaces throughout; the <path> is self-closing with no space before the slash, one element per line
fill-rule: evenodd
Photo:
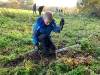
<path fill-rule="evenodd" d="M 22 63 L 24 59 L 31 60 L 34 63 L 39 63 L 41 61 L 44 63 L 44 65 L 48 65 L 50 62 L 56 60 L 56 55 L 52 54 L 50 56 L 46 56 L 40 54 L 39 52 L 32 51 L 23 56 L 19 56 L 16 59 L 10 60 L 5 67 L 16 67 Z"/>

